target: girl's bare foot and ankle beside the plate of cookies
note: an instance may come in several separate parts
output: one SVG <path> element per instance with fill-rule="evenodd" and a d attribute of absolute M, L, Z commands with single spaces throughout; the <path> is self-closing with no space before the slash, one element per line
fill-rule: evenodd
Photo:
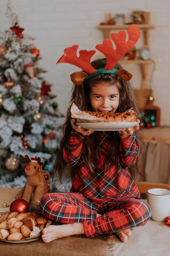
<path fill-rule="evenodd" d="M 50 225 L 42 230 L 42 240 L 49 243 L 55 239 L 84 234 L 83 223 Z"/>

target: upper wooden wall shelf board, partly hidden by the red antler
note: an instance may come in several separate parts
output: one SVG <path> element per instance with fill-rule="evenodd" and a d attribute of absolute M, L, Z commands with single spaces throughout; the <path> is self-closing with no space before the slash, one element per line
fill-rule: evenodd
<path fill-rule="evenodd" d="M 97 29 L 127 29 L 130 25 L 99 25 Z M 136 24 L 139 29 L 154 29 L 154 25 L 152 24 Z"/>

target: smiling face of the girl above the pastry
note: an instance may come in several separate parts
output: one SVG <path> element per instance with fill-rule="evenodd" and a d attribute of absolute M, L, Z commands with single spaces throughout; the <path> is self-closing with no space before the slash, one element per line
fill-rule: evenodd
<path fill-rule="evenodd" d="M 114 113 L 119 106 L 118 86 L 102 81 L 92 86 L 90 103 L 94 111 Z"/>

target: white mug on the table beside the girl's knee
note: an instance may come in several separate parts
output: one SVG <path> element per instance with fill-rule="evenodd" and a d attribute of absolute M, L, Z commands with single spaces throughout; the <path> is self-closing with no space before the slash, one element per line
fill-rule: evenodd
<path fill-rule="evenodd" d="M 165 217 L 170 216 L 170 190 L 149 189 L 147 198 L 152 220 L 161 222 Z"/>

